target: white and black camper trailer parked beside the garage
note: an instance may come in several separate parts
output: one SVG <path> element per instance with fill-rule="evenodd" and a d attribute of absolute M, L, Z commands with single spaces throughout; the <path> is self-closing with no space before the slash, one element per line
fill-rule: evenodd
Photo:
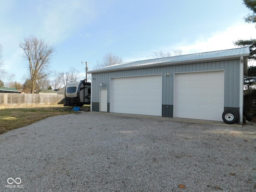
<path fill-rule="evenodd" d="M 83 106 L 91 102 L 91 83 L 70 82 L 66 85 L 64 106 Z"/>

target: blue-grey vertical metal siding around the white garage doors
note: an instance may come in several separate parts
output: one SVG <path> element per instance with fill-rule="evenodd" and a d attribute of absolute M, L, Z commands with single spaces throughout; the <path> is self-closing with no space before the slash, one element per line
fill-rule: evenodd
<path fill-rule="evenodd" d="M 104 87 L 105 89 L 110 89 L 110 78 L 112 77 L 163 74 L 162 104 L 173 105 L 174 73 L 207 70 L 224 70 L 224 107 L 239 107 L 239 64 L 240 59 L 232 59 L 92 74 L 92 78 L 95 78 L 94 80 L 92 80 L 92 102 L 99 102 L 99 85 L 101 82 L 104 82 L 106 84 L 106 86 Z M 165 76 L 165 74 L 167 73 L 170 73 L 171 76 Z M 110 91 L 108 91 L 108 102 L 110 102 L 109 94 Z"/>

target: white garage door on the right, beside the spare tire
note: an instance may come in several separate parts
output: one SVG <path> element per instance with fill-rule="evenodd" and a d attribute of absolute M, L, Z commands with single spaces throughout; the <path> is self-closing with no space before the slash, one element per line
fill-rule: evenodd
<path fill-rule="evenodd" d="M 174 117 L 222 121 L 224 72 L 175 74 Z"/>

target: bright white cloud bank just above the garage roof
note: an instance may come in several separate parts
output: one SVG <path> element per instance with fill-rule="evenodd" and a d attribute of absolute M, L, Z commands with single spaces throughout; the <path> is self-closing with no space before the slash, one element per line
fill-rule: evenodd
<path fill-rule="evenodd" d="M 207 36 L 200 35 L 196 40 L 179 40 L 171 47 L 161 47 L 158 50 L 152 50 L 151 52 L 146 53 L 134 53 L 134 55 L 126 56 L 123 58 L 124 62 L 133 62 L 139 60 L 150 59 L 150 56 L 156 51 L 164 50 L 168 52 L 173 52 L 174 50 L 182 50 L 182 54 L 194 54 L 202 52 L 210 52 L 217 50 L 225 50 L 238 48 L 234 46 L 233 42 L 238 39 L 250 39 L 256 38 L 256 28 L 254 24 L 248 23 L 236 23 L 233 26 L 229 26 L 224 31 L 217 31 L 209 34 Z M 172 54 L 174 56 L 174 54 Z M 152 57 L 151 57 L 152 58 Z"/>

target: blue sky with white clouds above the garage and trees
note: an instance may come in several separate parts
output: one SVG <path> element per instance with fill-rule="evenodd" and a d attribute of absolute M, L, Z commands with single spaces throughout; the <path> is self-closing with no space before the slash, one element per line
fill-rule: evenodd
<path fill-rule="evenodd" d="M 192 54 L 256 38 L 254 24 L 244 22 L 250 11 L 242 0 L 0 0 L 0 5 L 4 69 L 20 83 L 29 72 L 18 44 L 30 35 L 55 47 L 52 71 L 74 67 L 84 77 L 81 61 L 92 70 L 110 52 L 130 62 L 160 50 Z"/>

